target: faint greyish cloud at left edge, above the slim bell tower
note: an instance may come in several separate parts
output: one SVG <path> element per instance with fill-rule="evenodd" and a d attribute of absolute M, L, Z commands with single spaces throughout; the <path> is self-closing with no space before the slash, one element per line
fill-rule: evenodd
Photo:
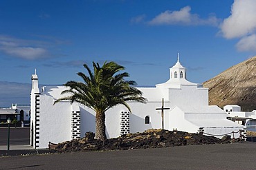
<path fill-rule="evenodd" d="M 47 56 L 44 42 L 15 39 L 10 36 L 0 36 L 0 51 L 21 59 L 40 59 Z"/>

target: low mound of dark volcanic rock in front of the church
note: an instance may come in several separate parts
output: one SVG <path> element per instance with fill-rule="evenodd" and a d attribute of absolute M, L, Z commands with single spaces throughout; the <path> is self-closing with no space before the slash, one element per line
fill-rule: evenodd
<path fill-rule="evenodd" d="M 127 150 L 158 147 L 175 147 L 184 145 L 206 145 L 227 143 L 230 138 L 215 138 L 203 134 L 191 134 L 184 131 L 167 131 L 163 129 L 148 129 L 143 133 L 122 135 L 105 141 L 95 140 L 92 132 L 87 132 L 81 139 L 74 139 L 59 143 L 55 151 L 100 151 L 100 150 Z"/>

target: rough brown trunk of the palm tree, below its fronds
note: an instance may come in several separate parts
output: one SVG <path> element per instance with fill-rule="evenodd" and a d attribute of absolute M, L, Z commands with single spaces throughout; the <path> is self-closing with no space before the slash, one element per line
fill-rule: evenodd
<path fill-rule="evenodd" d="M 96 112 L 95 139 L 104 141 L 106 138 L 105 113 Z"/>

